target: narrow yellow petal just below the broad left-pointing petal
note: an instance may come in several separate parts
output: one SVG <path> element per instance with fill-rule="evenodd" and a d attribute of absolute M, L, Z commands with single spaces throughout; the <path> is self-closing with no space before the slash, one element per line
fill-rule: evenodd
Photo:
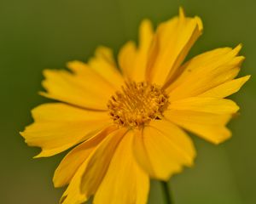
<path fill-rule="evenodd" d="M 113 126 L 106 127 L 94 137 L 84 141 L 84 143 L 79 144 L 77 147 L 71 150 L 55 170 L 55 175 L 53 178 L 55 187 L 61 187 L 68 184 L 82 163 L 87 159 L 90 153 L 95 150 L 96 145 L 115 129 L 116 127 Z"/>

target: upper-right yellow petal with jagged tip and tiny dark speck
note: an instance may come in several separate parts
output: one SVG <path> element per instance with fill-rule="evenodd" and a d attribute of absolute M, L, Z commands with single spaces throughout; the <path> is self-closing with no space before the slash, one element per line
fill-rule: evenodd
<path fill-rule="evenodd" d="M 235 49 L 218 48 L 190 59 L 180 68 L 180 77 L 166 88 L 170 99 L 197 96 L 235 78 L 244 60 L 236 56 L 240 49 L 241 45 Z"/>

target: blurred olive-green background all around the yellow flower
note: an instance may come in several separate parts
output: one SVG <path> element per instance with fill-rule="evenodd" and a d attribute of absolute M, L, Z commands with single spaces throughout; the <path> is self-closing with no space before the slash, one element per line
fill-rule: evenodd
<path fill-rule="evenodd" d="M 1 144 L 0 203 L 57 203 L 63 189 L 51 178 L 60 156 L 33 160 L 19 131 L 32 122 L 30 110 L 44 103 L 38 95 L 44 68 L 63 68 L 87 59 L 97 45 L 113 48 L 137 39 L 143 18 L 157 25 L 178 12 L 199 15 L 204 34 L 189 56 L 242 42 L 247 59 L 241 76 L 253 77 L 232 96 L 241 116 L 230 122 L 233 138 L 218 146 L 193 136 L 195 167 L 172 178 L 176 204 L 256 203 L 256 1 L 252 0 L 0 0 Z M 162 203 L 153 182 L 150 204 Z M 120 203 L 121 204 L 121 203 Z"/>

